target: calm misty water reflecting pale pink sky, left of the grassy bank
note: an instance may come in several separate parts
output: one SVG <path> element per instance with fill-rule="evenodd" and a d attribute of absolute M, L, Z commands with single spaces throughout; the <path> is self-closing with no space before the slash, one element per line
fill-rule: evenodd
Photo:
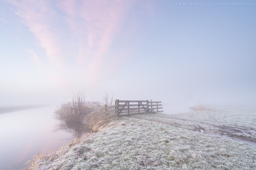
<path fill-rule="evenodd" d="M 22 169 L 38 153 L 56 151 L 65 145 L 70 131 L 57 131 L 56 106 L 0 115 L 0 169 Z"/>

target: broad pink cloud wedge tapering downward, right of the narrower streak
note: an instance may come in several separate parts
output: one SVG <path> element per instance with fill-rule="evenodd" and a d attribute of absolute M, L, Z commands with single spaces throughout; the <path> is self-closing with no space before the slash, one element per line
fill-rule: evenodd
<path fill-rule="evenodd" d="M 86 64 L 90 80 L 101 74 L 102 62 L 110 49 L 122 16 L 134 1 L 58 1 L 58 7 L 67 14 L 66 21 L 79 35 L 77 62 Z M 80 20 L 80 22 L 77 22 Z"/>

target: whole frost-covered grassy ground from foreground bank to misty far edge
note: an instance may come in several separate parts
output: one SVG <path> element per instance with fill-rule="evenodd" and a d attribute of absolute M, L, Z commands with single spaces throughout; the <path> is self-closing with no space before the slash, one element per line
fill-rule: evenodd
<path fill-rule="evenodd" d="M 255 143 L 255 130 L 255 109 L 244 113 L 243 109 L 218 107 L 178 115 L 121 117 L 57 152 L 37 155 L 33 166 L 35 169 L 256 169 L 256 147 L 238 141 Z"/>

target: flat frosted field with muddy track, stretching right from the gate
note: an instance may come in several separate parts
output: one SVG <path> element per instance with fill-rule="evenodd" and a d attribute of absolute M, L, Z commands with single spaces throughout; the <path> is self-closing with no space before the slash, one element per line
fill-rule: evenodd
<path fill-rule="evenodd" d="M 187 130 L 218 133 L 256 142 L 256 108 L 245 106 L 218 106 L 212 110 L 177 115 L 145 115 L 139 119 L 165 123 Z"/>

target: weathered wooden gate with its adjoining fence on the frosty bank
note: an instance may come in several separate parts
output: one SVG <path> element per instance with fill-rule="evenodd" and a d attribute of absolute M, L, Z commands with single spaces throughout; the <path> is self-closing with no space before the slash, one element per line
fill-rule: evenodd
<path fill-rule="evenodd" d="M 99 114 L 99 124 L 105 123 L 106 121 L 121 116 L 130 116 L 136 114 L 156 113 L 163 112 L 159 109 L 161 101 L 149 101 L 149 100 L 116 100 L 115 105 L 107 106 L 101 109 Z"/>

